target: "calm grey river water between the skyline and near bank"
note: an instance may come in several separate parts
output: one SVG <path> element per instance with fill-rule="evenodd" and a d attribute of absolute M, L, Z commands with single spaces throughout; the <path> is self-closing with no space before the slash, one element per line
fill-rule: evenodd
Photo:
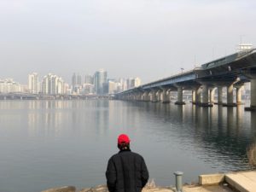
<path fill-rule="evenodd" d="M 249 169 L 256 113 L 187 103 L 108 100 L 0 101 L 0 191 L 37 192 L 106 183 L 117 137 L 127 133 L 154 182 L 185 183 L 198 175 Z"/>

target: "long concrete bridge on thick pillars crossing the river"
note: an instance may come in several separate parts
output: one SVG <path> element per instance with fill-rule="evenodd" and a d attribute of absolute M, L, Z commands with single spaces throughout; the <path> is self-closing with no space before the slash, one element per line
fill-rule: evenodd
<path fill-rule="evenodd" d="M 183 105 L 183 90 L 192 91 L 192 103 L 212 107 L 214 92 L 218 89 L 215 104 L 236 107 L 241 104 L 241 87 L 251 82 L 251 106 L 256 110 L 256 49 L 246 49 L 232 55 L 207 62 L 191 71 L 143 84 L 137 88 L 116 94 L 120 100 L 145 102 L 170 102 L 172 93 L 177 94 L 178 105 Z M 227 88 L 227 102 L 223 102 L 223 88 Z M 236 102 L 234 102 L 236 89 Z"/>

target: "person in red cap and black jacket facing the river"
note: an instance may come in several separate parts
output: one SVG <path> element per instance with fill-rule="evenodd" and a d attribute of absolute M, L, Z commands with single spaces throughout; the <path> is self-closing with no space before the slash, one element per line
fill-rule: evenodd
<path fill-rule="evenodd" d="M 140 154 L 131 152 L 130 139 L 118 138 L 119 153 L 108 160 L 106 172 L 109 192 L 140 192 L 148 182 L 148 169 Z"/>

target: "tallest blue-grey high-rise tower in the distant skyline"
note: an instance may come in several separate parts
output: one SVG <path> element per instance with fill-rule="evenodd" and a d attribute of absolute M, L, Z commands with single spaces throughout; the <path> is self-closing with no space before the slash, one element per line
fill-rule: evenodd
<path fill-rule="evenodd" d="M 107 84 L 107 76 L 108 73 L 104 71 L 103 69 L 100 69 L 97 71 L 94 75 L 94 85 L 95 85 L 95 91 L 97 95 L 104 94 L 103 92 L 103 85 Z"/>

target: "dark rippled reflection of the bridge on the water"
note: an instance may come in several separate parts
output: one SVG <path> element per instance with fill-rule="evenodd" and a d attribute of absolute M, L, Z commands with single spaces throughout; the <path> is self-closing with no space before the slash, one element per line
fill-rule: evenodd
<path fill-rule="evenodd" d="M 256 142 L 256 113 L 244 111 L 244 106 L 224 108 L 202 108 L 187 102 L 179 106 L 173 103 L 130 102 L 138 111 L 148 113 L 151 119 L 165 122 L 169 126 L 159 126 L 157 134 L 180 137 L 184 150 L 194 148 L 201 153 L 212 168 L 220 172 L 246 170 L 247 148 Z M 182 139 L 181 139 L 182 138 Z M 173 138 L 172 138 L 173 139 Z M 219 166 L 222 168 L 219 169 Z"/>

